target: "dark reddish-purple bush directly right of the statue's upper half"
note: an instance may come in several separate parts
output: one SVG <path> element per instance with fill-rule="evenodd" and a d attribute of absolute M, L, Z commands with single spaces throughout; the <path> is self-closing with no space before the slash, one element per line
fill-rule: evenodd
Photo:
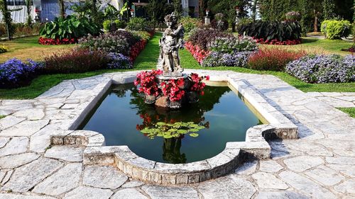
<path fill-rule="evenodd" d="M 229 33 L 224 33 L 212 29 L 198 29 L 188 40 L 192 45 L 199 46 L 202 50 L 208 50 L 207 45 L 216 38 L 233 38 Z"/>

